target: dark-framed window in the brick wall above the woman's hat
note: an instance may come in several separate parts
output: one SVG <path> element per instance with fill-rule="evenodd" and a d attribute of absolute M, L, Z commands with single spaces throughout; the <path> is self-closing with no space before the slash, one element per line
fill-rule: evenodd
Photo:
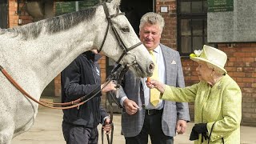
<path fill-rule="evenodd" d="M 207 43 L 207 1 L 178 0 L 178 51 L 182 56 Z M 211 45 L 210 45 L 211 46 Z"/>

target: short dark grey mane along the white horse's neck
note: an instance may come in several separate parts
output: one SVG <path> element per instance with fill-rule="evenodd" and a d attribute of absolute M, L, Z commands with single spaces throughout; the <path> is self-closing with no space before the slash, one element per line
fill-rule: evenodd
<path fill-rule="evenodd" d="M 42 30 L 44 30 L 44 33 L 46 34 L 55 34 L 62 30 L 69 30 L 70 28 L 77 26 L 79 23 L 93 18 L 98 5 L 89 7 L 85 10 L 79 10 L 77 12 L 43 19 L 38 22 L 32 22 L 24 26 L 18 26 L 7 30 L 0 29 L 0 34 L 5 34 L 8 31 L 13 33 L 14 36 L 22 35 L 21 38 L 23 40 L 27 40 L 38 38 L 39 34 L 42 33 Z"/>

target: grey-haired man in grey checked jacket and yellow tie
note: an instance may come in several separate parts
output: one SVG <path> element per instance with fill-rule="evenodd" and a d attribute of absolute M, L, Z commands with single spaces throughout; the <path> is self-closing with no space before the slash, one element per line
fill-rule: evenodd
<path fill-rule="evenodd" d="M 170 86 L 184 87 L 182 65 L 178 51 L 160 44 L 164 19 L 160 14 L 142 16 L 139 35 L 148 50 L 153 50 L 158 65 L 158 80 Z M 150 103 L 150 89 L 146 78 L 137 78 L 128 71 L 117 98 L 124 107 L 122 134 L 126 144 L 146 144 L 148 136 L 152 144 L 174 143 L 176 132 L 183 134 L 190 121 L 187 103 L 160 100 Z"/>

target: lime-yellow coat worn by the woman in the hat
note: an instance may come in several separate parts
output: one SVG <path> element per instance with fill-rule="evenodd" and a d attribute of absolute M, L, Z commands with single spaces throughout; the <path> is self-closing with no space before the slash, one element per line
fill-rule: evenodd
<path fill-rule="evenodd" d="M 162 99 L 176 102 L 194 102 L 194 122 L 207 123 L 208 136 L 215 122 L 211 144 L 240 144 L 240 122 L 242 115 L 242 93 L 236 82 L 225 75 L 211 87 L 206 82 L 199 82 L 186 88 L 166 86 Z M 208 140 L 194 141 L 207 144 Z"/>

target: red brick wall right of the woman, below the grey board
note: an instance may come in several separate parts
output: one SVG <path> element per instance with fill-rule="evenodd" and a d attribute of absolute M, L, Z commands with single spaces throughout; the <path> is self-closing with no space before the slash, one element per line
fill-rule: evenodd
<path fill-rule="evenodd" d="M 256 43 L 219 44 L 226 52 L 226 70 L 242 90 L 242 123 L 256 126 Z"/>

